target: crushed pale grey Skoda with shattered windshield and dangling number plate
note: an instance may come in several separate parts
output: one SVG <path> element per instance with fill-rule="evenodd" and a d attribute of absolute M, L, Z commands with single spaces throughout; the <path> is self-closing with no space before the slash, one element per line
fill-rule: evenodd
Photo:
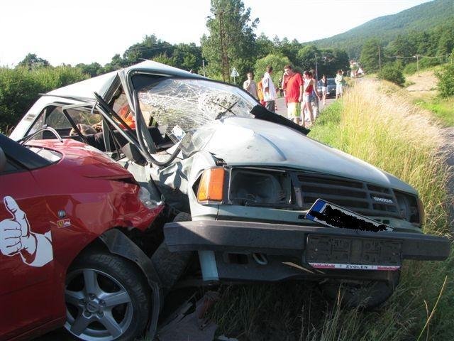
<path fill-rule="evenodd" d="M 298 279 L 372 307 L 391 296 L 402 261 L 450 254 L 448 239 L 423 234 L 414 188 L 223 82 L 145 61 L 52 90 L 11 139 L 54 139 L 49 127 L 165 203 L 147 254 L 162 296 L 182 274 L 192 285 Z"/>

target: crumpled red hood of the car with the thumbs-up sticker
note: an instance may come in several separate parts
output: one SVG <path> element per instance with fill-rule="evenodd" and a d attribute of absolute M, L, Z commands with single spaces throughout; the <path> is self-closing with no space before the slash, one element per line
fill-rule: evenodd
<path fill-rule="evenodd" d="M 54 139 L 33 140 L 27 146 L 51 149 L 62 154 L 62 160 L 72 169 L 77 169 L 80 175 L 89 178 L 133 178 L 125 168 L 92 146 L 72 139 L 63 142 Z"/>

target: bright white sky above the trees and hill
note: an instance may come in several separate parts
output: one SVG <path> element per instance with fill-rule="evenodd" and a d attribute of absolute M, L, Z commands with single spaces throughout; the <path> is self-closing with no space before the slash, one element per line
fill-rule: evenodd
<path fill-rule="evenodd" d="M 257 35 L 300 43 L 424 2 L 428 0 L 243 0 L 250 17 L 260 19 Z M 54 66 L 104 65 L 151 34 L 172 44 L 200 45 L 210 14 L 210 0 L 2 0 L 0 65 L 13 67 L 28 53 Z"/>

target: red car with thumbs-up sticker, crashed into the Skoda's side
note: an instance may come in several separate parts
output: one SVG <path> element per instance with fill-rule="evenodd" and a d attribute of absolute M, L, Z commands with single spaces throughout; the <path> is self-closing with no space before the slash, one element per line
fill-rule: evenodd
<path fill-rule="evenodd" d="M 158 280 L 133 236 L 146 234 L 160 202 L 71 139 L 0 134 L 0 183 L 0 340 L 63 325 L 82 340 L 143 332 Z"/>

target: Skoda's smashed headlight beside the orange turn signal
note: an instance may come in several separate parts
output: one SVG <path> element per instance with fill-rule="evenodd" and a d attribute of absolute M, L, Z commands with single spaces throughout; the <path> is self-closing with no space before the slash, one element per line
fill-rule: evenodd
<path fill-rule="evenodd" d="M 233 168 L 228 202 L 245 206 L 292 204 L 292 181 L 285 171 Z"/>

